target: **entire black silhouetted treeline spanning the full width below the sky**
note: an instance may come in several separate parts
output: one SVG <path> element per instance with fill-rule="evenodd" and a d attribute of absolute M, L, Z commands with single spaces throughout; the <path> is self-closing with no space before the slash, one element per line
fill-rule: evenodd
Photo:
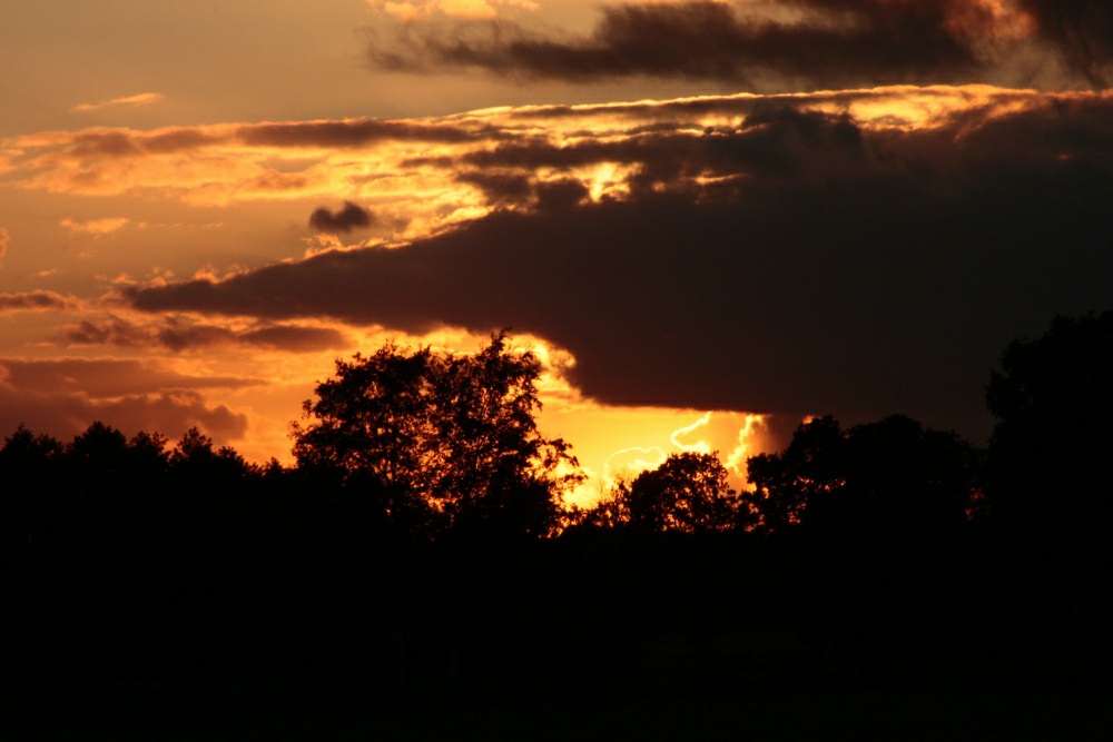
<path fill-rule="evenodd" d="M 0 665 L 406 689 L 836 663 L 1080 672 L 1113 657 L 1113 313 L 1013 343 L 987 449 L 811 419 L 736 493 L 679 454 L 588 511 L 541 368 L 393 345 L 337 362 L 297 465 L 95 424 L 0 449 Z"/>

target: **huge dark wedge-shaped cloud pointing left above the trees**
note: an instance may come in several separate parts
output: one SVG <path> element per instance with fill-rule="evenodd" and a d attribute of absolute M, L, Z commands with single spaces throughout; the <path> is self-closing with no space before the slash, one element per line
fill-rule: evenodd
<path fill-rule="evenodd" d="M 496 147 L 463 157 L 503 178 L 619 164 L 628 195 L 581 186 L 406 247 L 129 296 L 156 313 L 511 326 L 569 348 L 607 403 L 904 412 L 981 436 L 1009 339 L 1113 307 L 1113 97 L 1027 95 L 914 130 L 775 107 L 722 130 Z"/>

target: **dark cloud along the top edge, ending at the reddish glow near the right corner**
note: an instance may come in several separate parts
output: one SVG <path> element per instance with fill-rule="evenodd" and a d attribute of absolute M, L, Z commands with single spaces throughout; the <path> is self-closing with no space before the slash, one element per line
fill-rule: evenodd
<path fill-rule="evenodd" d="M 968 79 L 982 66 L 966 29 L 948 23 L 958 0 L 800 0 L 804 20 L 776 22 L 719 2 L 604 7 L 589 38 L 560 40 L 508 24 L 411 31 L 373 47 L 386 69 L 479 67 L 500 75 L 590 82 L 647 75 L 751 82 L 774 73 L 815 85 Z M 976 11 L 971 31 L 989 19 Z"/>

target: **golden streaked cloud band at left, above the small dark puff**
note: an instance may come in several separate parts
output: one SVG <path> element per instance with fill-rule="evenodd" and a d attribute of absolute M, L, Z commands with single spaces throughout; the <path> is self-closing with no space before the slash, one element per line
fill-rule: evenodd
<path fill-rule="evenodd" d="M 0 142 L 0 157 L 11 162 L 13 185 L 50 192 L 139 192 L 205 206 L 405 194 L 427 207 L 427 185 L 420 174 L 393 167 L 397 154 L 482 146 L 503 136 L 512 133 L 476 117 L 97 128 L 16 137 Z"/>

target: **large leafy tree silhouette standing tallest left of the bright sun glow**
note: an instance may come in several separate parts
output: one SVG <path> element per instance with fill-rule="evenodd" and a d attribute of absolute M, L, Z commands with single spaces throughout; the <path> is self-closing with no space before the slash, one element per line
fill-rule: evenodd
<path fill-rule="evenodd" d="M 422 528 L 551 533 L 581 477 L 570 446 L 538 431 L 541 363 L 506 345 L 503 333 L 475 355 L 388 343 L 337 360 L 304 404 L 309 422 L 294 425 L 298 466 L 341 469 Z"/>

